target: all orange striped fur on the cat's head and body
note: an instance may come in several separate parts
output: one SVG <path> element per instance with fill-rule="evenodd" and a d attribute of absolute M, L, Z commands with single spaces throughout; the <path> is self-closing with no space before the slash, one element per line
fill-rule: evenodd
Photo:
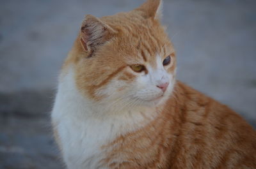
<path fill-rule="evenodd" d="M 165 71 L 173 75 L 174 83 L 176 55 L 160 23 L 160 3 L 148 0 L 126 13 L 86 16 L 61 76 L 71 66 L 77 91 L 100 103 L 111 96 L 101 92 L 107 86 L 123 82 L 126 85 L 117 87 L 116 92 L 124 92 L 134 84 L 139 73 L 129 66 L 148 64 L 154 69 L 156 55 L 162 61 L 170 55 Z M 142 73 L 147 75 L 148 71 Z M 168 99 L 152 105 L 155 109 L 154 119 L 148 112 L 140 112 L 145 117 L 140 128 L 100 147 L 104 152 L 101 168 L 256 168 L 256 132 L 227 106 L 178 81 Z M 61 147 L 55 126 L 58 124 L 54 124 L 54 133 Z"/>

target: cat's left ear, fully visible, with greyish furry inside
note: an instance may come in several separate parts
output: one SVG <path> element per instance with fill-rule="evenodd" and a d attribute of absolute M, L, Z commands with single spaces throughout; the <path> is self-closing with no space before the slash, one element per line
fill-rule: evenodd
<path fill-rule="evenodd" d="M 80 42 L 86 52 L 93 52 L 115 34 L 106 23 L 93 15 L 86 15 L 80 32 Z"/>

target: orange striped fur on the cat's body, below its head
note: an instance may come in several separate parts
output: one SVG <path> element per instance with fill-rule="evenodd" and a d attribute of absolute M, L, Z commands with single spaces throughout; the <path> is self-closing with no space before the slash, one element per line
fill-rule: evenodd
<path fill-rule="evenodd" d="M 102 149 L 110 149 L 109 168 L 256 168 L 253 128 L 181 82 L 154 121 Z M 115 163 L 120 154 L 124 162 Z"/>

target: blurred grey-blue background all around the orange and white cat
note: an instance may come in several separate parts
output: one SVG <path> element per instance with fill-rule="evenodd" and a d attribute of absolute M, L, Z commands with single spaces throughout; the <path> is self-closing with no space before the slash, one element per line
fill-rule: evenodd
<path fill-rule="evenodd" d="M 85 14 L 143 0 L 0 0 L 0 168 L 64 168 L 49 114 L 63 59 Z M 178 78 L 256 127 L 256 1 L 164 0 Z"/>

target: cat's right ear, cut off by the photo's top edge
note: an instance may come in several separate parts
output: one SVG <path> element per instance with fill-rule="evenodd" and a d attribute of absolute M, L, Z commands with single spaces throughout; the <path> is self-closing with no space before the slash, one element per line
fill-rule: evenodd
<path fill-rule="evenodd" d="M 139 8 L 135 10 L 143 11 L 143 17 L 161 19 L 163 12 L 162 0 L 147 0 Z"/>

